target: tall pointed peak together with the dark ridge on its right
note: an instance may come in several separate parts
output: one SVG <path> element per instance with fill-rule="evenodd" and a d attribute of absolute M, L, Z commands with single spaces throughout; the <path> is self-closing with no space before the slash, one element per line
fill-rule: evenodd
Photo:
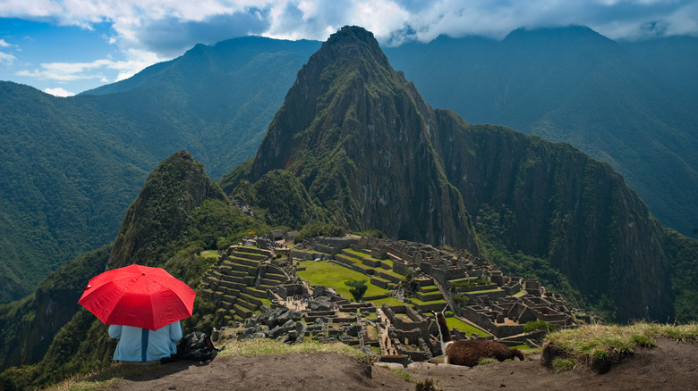
<path fill-rule="evenodd" d="M 660 224 L 608 164 L 432 109 L 363 29 L 341 29 L 311 56 L 255 158 L 222 186 L 269 210 L 274 200 L 236 186 L 279 170 L 335 224 L 473 254 L 484 240 L 489 257 L 543 260 L 584 303 L 610 301 L 616 320 L 674 313 Z"/>

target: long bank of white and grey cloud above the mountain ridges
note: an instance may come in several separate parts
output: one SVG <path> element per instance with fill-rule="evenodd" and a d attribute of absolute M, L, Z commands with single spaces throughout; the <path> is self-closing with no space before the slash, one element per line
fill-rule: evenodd
<path fill-rule="evenodd" d="M 123 51 L 172 58 L 199 42 L 247 34 L 324 40 L 347 24 L 394 43 L 569 24 L 618 37 L 654 21 L 667 23 L 666 34 L 697 34 L 696 8 L 695 0 L 4 0 L 0 16 L 83 28 L 106 21 L 115 31 L 107 39 Z"/>

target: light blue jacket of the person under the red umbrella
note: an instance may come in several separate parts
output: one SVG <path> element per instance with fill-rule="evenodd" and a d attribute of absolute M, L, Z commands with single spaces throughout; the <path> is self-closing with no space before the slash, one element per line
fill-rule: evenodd
<path fill-rule="evenodd" d="M 177 353 L 177 341 L 182 339 L 179 320 L 155 331 L 132 326 L 111 325 L 109 337 L 119 338 L 114 360 L 149 362 Z"/>

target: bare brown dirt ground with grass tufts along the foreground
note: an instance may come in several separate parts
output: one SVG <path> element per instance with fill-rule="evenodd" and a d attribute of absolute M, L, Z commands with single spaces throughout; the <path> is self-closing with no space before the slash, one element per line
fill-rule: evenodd
<path fill-rule="evenodd" d="M 116 390 L 413 390 L 415 382 L 438 380 L 445 390 L 587 390 L 695 389 L 698 345 L 660 339 L 658 348 L 639 349 L 608 373 L 586 367 L 556 373 L 541 365 L 540 356 L 520 362 L 492 362 L 475 368 L 445 364 L 396 365 L 396 370 L 368 364 L 342 354 L 219 356 L 212 362 L 172 362 L 119 380 Z"/>

